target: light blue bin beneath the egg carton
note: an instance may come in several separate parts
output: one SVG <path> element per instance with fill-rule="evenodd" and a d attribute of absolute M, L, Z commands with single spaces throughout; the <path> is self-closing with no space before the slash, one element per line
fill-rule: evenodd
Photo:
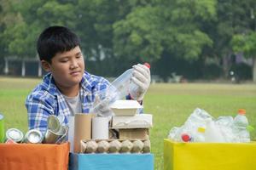
<path fill-rule="evenodd" d="M 152 154 L 74 154 L 69 170 L 153 170 Z"/>

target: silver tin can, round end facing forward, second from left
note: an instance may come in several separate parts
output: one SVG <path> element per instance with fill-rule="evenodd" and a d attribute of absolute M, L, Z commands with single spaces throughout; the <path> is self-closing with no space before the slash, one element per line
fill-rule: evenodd
<path fill-rule="evenodd" d="M 37 129 L 31 129 L 26 133 L 24 141 L 27 144 L 40 144 L 42 143 L 43 139 L 43 133 Z"/>

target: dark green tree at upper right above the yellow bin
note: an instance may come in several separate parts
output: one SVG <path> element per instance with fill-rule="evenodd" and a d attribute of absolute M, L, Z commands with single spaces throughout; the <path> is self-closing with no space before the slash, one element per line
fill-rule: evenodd
<path fill-rule="evenodd" d="M 254 24 L 251 19 L 253 6 L 255 6 L 253 0 L 218 0 L 217 20 L 202 26 L 213 41 L 212 48 L 207 48 L 203 54 L 219 61 L 231 60 L 231 56 L 237 52 L 234 52 L 234 40 L 232 42 L 234 35 L 244 34 L 253 29 Z M 225 76 L 228 77 L 231 62 L 219 63 L 222 64 Z"/>

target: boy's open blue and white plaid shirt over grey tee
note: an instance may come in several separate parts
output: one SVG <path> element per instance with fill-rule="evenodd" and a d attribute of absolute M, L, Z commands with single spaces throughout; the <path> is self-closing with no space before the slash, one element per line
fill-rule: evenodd
<path fill-rule="evenodd" d="M 103 77 L 96 77 L 84 71 L 80 84 L 79 94 L 82 102 L 82 112 L 89 113 L 96 93 L 108 88 L 110 83 Z M 51 73 L 47 74 L 43 82 L 38 84 L 32 93 L 28 95 L 26 109 L 29 129 L 36 128 L 43 133 L 47 129 L 49 115 L 58 116 L 62 114 L 64 116 L 64 124 L 67 125 L 68 116 L 71 114 L 63 95 L 55 86 Z"/>

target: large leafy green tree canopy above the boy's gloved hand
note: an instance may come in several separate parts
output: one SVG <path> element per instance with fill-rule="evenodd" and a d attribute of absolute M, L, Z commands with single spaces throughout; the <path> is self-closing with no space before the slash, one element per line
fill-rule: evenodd
<path fill-rule="evenodd" d="M 114 51 L 121 57 L 149 62 L 160 59 L 164 51 L 198 59 L 202 48 L 212 45 L 199 23 L 214 18 L 215 5 L 214 0 L 160 0 L 134 8 L 113 25 Z"/>

